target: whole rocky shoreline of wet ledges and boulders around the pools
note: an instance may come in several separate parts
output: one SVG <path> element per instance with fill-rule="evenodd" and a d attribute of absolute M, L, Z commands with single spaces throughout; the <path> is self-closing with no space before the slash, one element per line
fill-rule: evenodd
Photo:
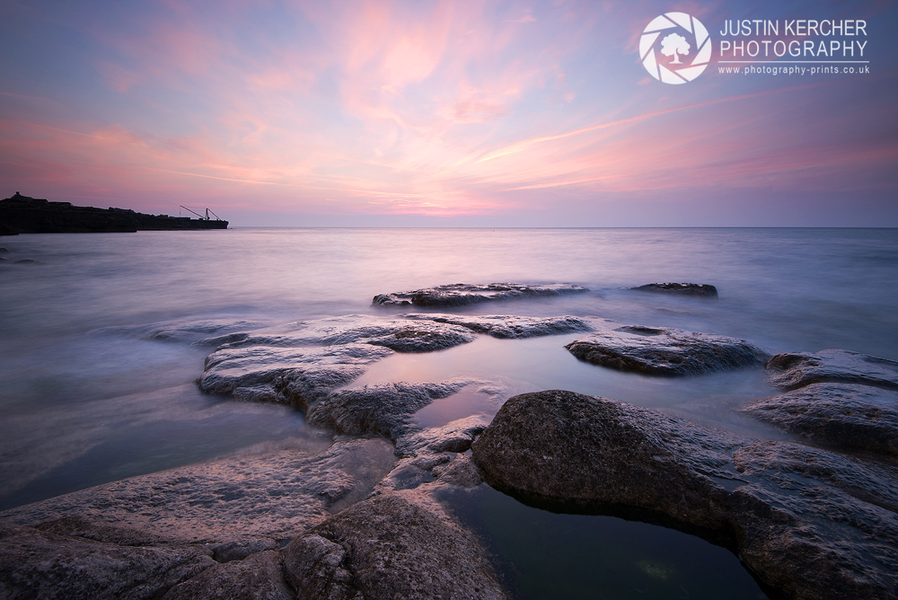
<path fill-rule="evenodd" d="M 519 295 L 489 302 L 509 299 Z M 774 596 L 898 594 L 894 361 L 847 350 L 771 357 L 745 340 L 574 316 L 347 315 L 127 332 L 211 349 L 201 390 L 302 410 L 330 447 L 269 448 L 6 510 L 2 597 L 505 598 L 482 540 L 439 500 L 484 481 L 536 506 L 698 534 L 735 551 Z M 808 443 L 563 390 L 512 395 L 489 378 L 353 384 L 397 353 L 570 333 L 582 335 L 568 350 L 594 368 L 765 368 L 783 393 L 745 413 Z M 415 420 L 457 394 L 496 416 Z"/>

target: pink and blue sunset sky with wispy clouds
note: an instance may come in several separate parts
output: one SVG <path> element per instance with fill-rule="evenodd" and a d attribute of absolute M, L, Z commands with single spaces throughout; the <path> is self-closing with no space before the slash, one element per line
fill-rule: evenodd
<path fill-rule="evenodd" d="M 663 17 L 640 48 L 669 13 L 688 31 Z M 650 75 L 701 60 L 695 21 L 705 69 Z M 876 1 L 4 0 L 0 197 L 231 225 L 898 226 L 896 31 Z M 733 56 L 764 40 L 803 54 Z M 770 66 L 806 70 L 744 72 Z"/>

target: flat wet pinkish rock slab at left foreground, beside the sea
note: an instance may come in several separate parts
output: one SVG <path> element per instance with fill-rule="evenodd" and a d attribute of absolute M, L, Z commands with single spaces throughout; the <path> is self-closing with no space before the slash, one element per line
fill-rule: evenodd
<path fill-rule="evenodd" d="M 75 491 L 0 518 L 37 525 L 78 516 L 178 543 L 279 540 L 365 498 L 395 460 L 382 439 L 340 441 L 321 454 L 236 456 Z"/>

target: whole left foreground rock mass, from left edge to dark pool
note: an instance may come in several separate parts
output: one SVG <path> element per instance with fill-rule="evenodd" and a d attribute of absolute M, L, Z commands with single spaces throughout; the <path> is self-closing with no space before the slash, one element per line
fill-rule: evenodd
<path fill-rule="evenodd" d="M 506 598 L 431 496 L 482 482 L 459 453 L 486 425 L 412 431 L 395 454 L 361 438 L 239 456 L 4 511 L 0 597 Z"/>

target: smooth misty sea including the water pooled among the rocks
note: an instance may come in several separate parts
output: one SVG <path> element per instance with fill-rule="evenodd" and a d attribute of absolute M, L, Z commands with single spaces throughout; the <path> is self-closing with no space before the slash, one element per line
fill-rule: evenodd
<path fill-rule="evenodd" d="M 733 336 L 771 353 L 850 349 L 898 360 L 894 228 L 240 227 L 22 234 L 0 247 L 0 509 L 254 448 L 321 446 L 295 410 L 200 393 L 211 350 L 136 333 L 160 323 L 407 313 L 372 297 L 559 282 L 589 292 L 457 310 L 600 317 Z M 657 282 L 711 284 L 719 297 L 628 289 Z M 775 393 L 761 369 L 624 374 L 571 356 L 564 345 L 576 337 L 483 337 L 396 355 L 358 383 L 497 377 L 515 391 L 568 389 L 790 438 L 738 410 Z M 566 597 L 765 597 L 732 551 L 699 538 L 615 516 L 556 515 L 481 488 L 445 501 L 519 597 L 557 595 L 560 581 Z"/>

